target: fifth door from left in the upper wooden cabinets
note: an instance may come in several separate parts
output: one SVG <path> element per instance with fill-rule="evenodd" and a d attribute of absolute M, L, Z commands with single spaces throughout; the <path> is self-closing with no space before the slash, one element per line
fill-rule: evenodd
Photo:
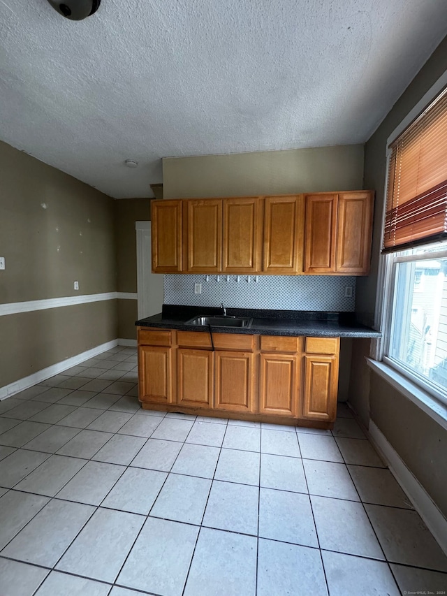
<path fill-rule="evenodd" d="M 305 272 L 335 272 L 337 194 L 306 196 Z"/>

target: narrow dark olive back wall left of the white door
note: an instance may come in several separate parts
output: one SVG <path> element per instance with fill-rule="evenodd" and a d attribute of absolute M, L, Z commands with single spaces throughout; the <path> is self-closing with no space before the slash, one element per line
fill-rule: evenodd
<path fill-rule="evenodd" d="M 150 198 L 122 198 L 115 201 L 117 290 L 137 291 L 137 249 L 135 221 L 151 219 Z M 135 340 L 137 300 L 118 300 L 118 337 Z"/>

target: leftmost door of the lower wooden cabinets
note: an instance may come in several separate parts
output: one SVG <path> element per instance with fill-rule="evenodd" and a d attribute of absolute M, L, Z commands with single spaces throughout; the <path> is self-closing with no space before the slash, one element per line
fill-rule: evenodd
<path fill-rule="evenodd" d="M 139 399 L 143 402 L 172 402 L 172 348 L 138 348 Z"/>

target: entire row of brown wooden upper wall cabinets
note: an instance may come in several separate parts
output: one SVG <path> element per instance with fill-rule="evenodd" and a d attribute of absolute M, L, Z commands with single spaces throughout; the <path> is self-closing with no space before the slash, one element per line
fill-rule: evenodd
<path fill-rule="evenodd" d="M 152 202 L 152 270 L 367 275 L 372 191 Z"/>

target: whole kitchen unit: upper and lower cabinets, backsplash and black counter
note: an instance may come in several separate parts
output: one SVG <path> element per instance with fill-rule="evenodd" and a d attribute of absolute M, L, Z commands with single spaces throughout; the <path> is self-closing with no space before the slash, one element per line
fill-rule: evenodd
<path fill-rule="evenodd" d="M 230 310 L 227 315 L 223 303 L 221 311 L 207 310 L 206 303 L 195 310 L 187 306 L 176 308 L 169 304 L 166 288 L 168 304 L 163 305 L 163 318 L 149 317 L 137 322 L 143 407 L 150 407 L 152 402 L 154 407 L 164 404 L 168 409 L 176 408 L 187 414 L 193 410 L 182 407 L 196 405 L 205 408 L 196 413 L 219 414 L 220 409 L 230 417 L 257 412 L 259 416 L 255 419 L 264 422 L 274 422 L 269 414 L 289 416 L 291 423 L 297 423 L 298 416 L 300 424 L 307 419 L 309 425 L 314 421 L 318 426 L 318 421 L 322 421 L 320 428 L 331 428 L 337 402 L 339 337 L 379 337 L 379 334 L 356 324 L 353 317 L 350 325 L 349 317 L 341 313 L 312 313 L 318 304 L 313 297 L 323 293 L 332 298 L 334 302 L 328 303 L 328 311 L 349 309 L 346 298 L 351 297 L 353 308 L 350 285 L 355 282 L 353 275 L 369 272 L 372 209 L 373 193 L 368 191 L 154 201 L 152 270 L 201 271 L 208 281 L 215 272 L 215 282 L 222 282 L 220 288 L 212 283 L 214 293 L 219 295 L 220 290 L 222 299 L 228 296 L 230 300 L 257 306 L 258 310 Z M 230 284 L 231 272 L 236 274 L 236 284 Z M 324 272 L 329 279 L 323 277 Z M 300 284 L 291 286 L 298 300 L 302 300 L 301 310 L 285 308 L 284 298 L 278 295 L 284 292 L 287 277 L 265 276 L 272 273 L 301 273 Z M 315 277 L 305 277 L 312 274 Z M 330 284 L 330 276 L 339 278 L 338 287 Z M 178 291 L 174 277 L 167 277 L 167 286 L 172 279 Z M 251 278 L 252 285 L 247 286 Z M 198 281 L 197 275 L 194 280 Z M 343 280 L 345 285 L 340 287 Z M 309 282 L 307 300 L 302 292 L 305 282 Z M 183 300 L 191 305 L 188 285 L 201 291 L 202 284 L 193 286 L 191 278 L 185 280 Z M 261 298 L 256 304 L 257 293 Z M 272 303 L 266 293 L 276 296 L 276 301 Z M 272 310 L 274 307 L 280 310 Z M 320 310 L 323 311 L 321 303 Z M 218 319 L 217 315 L 220 315 Z M 150 328 L 170 330 L 156 332 Z M 194 333 L 200 330 L 209 333 L 209 337 Z M 221 335 L 230 331 L 238 335 Z M 263 352 L 260 356 L 256 337 L 247 335 L 259 333 Z M 306 337 L 304 345 L 298 337 L 305 336 L 312 337 Z M 175 340 L 179 349 L 174 347 Z M 206 352 L 197 351 L 204 348 Z M 215 353 L 214 349 L 217 349 Z M 279 356 L 281 353 L 289 355 Z M 177 361 L 177 375 L 173 360 Z M 191 383 L 192 377 L 210 381 L 199 389 L 200 381 Z M 175 386 L 178 386 L 177 398 Z M 286 419 L 281 421 L 285 423 Z"/>

